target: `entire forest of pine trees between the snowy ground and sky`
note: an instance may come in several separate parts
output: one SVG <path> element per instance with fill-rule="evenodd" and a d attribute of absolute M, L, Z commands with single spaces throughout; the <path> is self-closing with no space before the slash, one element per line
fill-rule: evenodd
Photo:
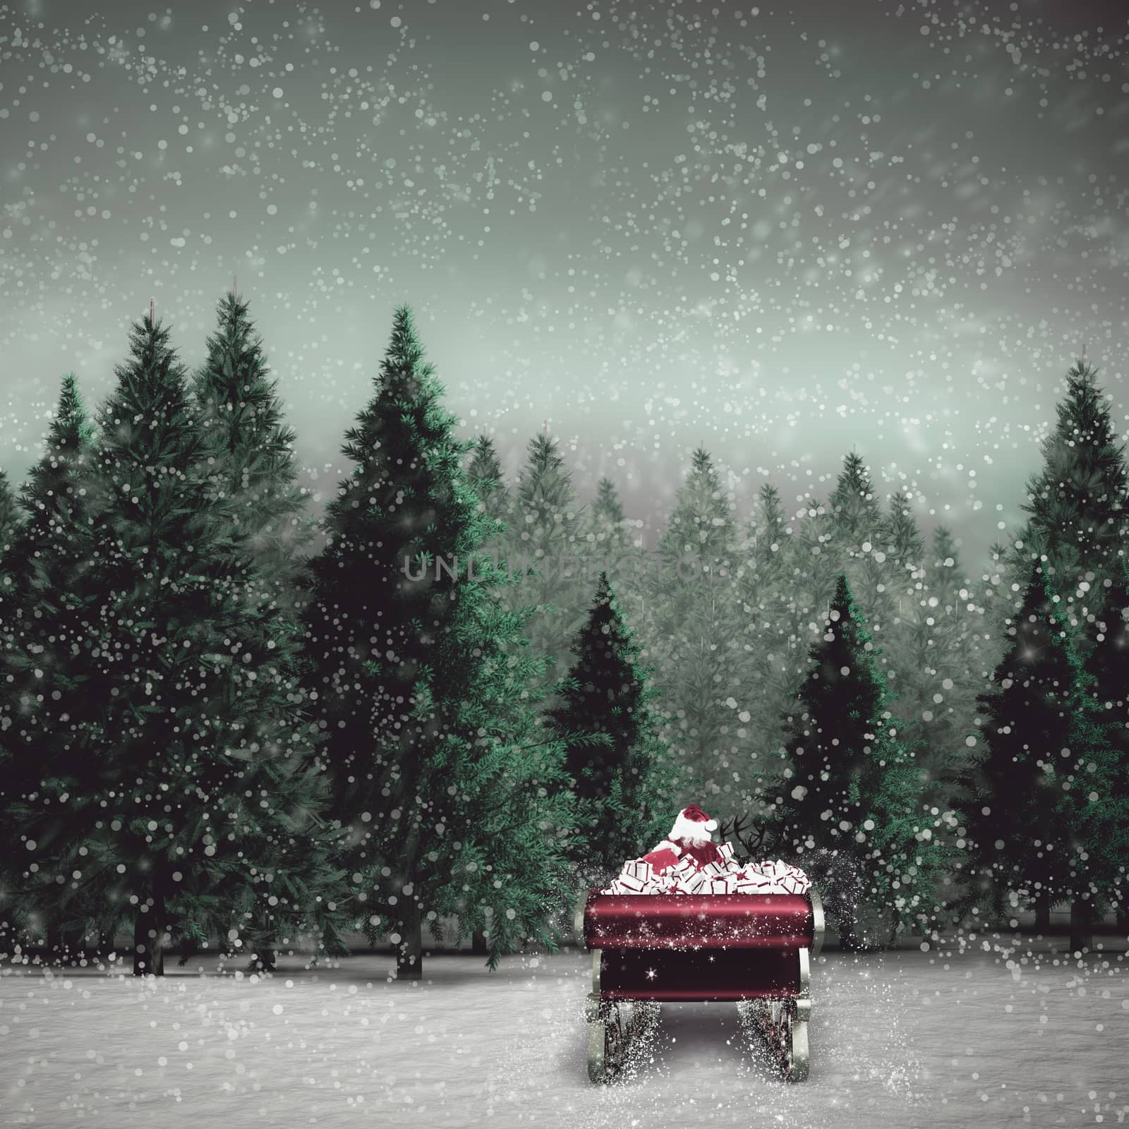
<path fill-rule="evenodd" d="M 657 546 L 535 435 L 513 481 L 457 435 L 400 308 L 318 516 L 247 303 L 187 371 L 131 327 L 88 417 L 0 472 L 0 920 L 9 953 L 260 968 L 454 921 L 491 965 L 683 803 L 823 886 L 844 944 L 1069 899 L 1129 860 L 1129 507 L 1073 368 L 1026 523 L 969 575 L 864 460 L 738 523 L 693 454 Z M 318 536 L 321 534 L 321 536 Z M 316 549 L 314 545 L 321 545 Z"/>

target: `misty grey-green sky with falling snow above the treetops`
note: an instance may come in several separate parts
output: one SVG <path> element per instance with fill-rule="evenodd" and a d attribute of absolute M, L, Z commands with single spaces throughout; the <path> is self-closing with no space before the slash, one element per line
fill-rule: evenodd
<path fill-rule="evenodd" d="M 150 297 L 201 360 L 237 274 L 323 497 L 408 301 L 511 471 L 548 420 L 654 530 L 699 444 L 742 518 L 855 447 L 972 564 L 1084 344 L 1129 430 L 1127 32 L 1065 0 L 0 3 L 0 465 L 63 373 L 108 392 Z"/>

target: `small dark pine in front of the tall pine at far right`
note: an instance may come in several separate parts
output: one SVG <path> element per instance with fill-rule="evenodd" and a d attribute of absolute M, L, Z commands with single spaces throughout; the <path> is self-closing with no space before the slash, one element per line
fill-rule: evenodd
<path fill-rule="evenodd" d="M 980 733 L 969 741 L 982 751 L 965 776 L 964 825 L 972 893 L 996 913 L 1008 894 L 1056 901 L 1080 891 L 1071 868 L 1091 816 L 1070 790 L 1101 742 L 1061 605 L 1033 564 L 1007 650 L 977 698 Z"/>

